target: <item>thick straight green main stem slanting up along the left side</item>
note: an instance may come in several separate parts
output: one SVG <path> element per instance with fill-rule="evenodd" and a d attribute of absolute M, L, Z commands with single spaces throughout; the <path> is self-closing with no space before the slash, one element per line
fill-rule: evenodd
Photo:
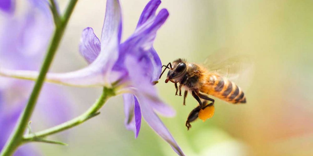
<path fill-rule="evenodd" d="M 1 156 L 9 156 L 14 153 L 14 151 L 18 148 L 19 145 L 22 144 L 23 141 L 23 133 L 27 127 L 28 121 L 30 117 L 33 114 L 33 110 L 35 108 L 38 95 L 40 93 L 40 90 L 42 88 L 42 85 L 44 83 L 44 79 L 46 77 L 46 74 L 49 70 L 49 67 L 51 65 L 51 62 L 54 58 L 54 54 L 59 47 L 61 38 L 63 37 L 63 33 L 65 30 L 65 27 L 67 26 L 67 23 L 69 21 L 69 17 L 71 16 L 75 4 L 78 0 L 71 0 L 69 2 L 68 7 L 66 8 L 66 11 L 64 13 L 64 17 L 61 18 L 61 23 L 56 26 L 52 40 L 50 42 L 49 48 L 47 50 L 47 54 L 45 56 L 44 62 L 41 66 L 38 79 L 33 87 L 33 91 L 29 97 L 28 103 L 23 110 L 21 116 L 18 119 L 18 123 L 11 134 L 10 138 L 8 139 L 7 143 L 3 147 L 2 152 L 0 153 Z"/>

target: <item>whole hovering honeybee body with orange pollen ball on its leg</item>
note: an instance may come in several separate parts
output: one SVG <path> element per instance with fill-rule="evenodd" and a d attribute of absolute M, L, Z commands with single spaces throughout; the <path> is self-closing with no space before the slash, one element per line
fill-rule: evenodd
<path fill-rule="evenodd" d="M 185 124 L 187 130 L 191 128 L 190 123 L 196 119 L 200 118 L 204 121 L 213 116 L 214 99 L 209 95 L 233 104 L 246 103 L 246 97 L 241 88 L 217 72 L 209 71 L 195 63 L 189 63 L 185 59 L 177 59 L 163 67 L 165 69 L 160 78 L 165 70 L 169 69 L 165 83 L 171 81 L 175 84 L 175 95 L 178 95 L 179 91 L 179 96 L 182 96 L 182 88 L 185 89 L 183 105 L 185 105 L 188 92 L 199 103 L 199 106 L 194 108 L 187 117 Z"/>

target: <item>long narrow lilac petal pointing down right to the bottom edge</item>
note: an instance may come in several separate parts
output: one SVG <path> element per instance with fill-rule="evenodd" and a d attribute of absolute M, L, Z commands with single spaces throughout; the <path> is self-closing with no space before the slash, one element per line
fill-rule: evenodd
<path fill-rule="evenodd" d="M 167 130 L 165 125 L 162 123 L 160 118 L 153 112 L 151 103 L 154 103 L 153 100 L 146 98 L 143 95 L 136 95 L 142 110 L 142 115 L 146 122 L 150 125 L 150 127 L 159 134 L 167 143 L 169 143 L 172 149 L 178 155 L 184 155 L 174 138 L 172 137 L 171 133 Z"/>

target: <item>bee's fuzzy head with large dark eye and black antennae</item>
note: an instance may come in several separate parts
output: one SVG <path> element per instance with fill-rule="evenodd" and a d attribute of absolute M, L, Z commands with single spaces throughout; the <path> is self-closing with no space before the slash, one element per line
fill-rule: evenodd
<path fill-rule="evenodd" d="M 169 68 L 168 66 L 170 66 L 171 68 Z M 173 61 L 172 64 L 168 63 L 166 68 L 168 68 L 170 70 L 167 72 L 167 78 L 165 80 L 165 83 L 167 83 L 168 81 L 175 83 L 175 81 L 173 79 L 176 79 L 176 78 L 183 76 L 186 73 L 187 65 L 186 65 L 185 60 L 177 59 L 177 60 Z M 164 69 L 164 71 L 165 71 L 165 69 Z M 164 73 L 164 71 L 162 72 L 162 74 Z M 162 76 L 162 74 L 161 74 L 161 76 Z M 161 78 L 161 76 L 160 76 L 160 78 Z"/>

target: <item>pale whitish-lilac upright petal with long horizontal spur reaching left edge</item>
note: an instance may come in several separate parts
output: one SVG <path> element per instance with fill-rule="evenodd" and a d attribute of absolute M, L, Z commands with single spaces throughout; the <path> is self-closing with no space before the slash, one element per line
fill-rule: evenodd
<path fill-rule="evenodd" d="M 48 73 L 46 81 L 73 86 L 104 86 L 112 80 L 110 71 L 118 57 L 121 36 L 121 7 L 118 0 L 108 0 L 99 56 L 89 66 L 68 73 Z M 0 76 L 36 80 L 37 71 L 13 71 L 0 68 Z"/>

